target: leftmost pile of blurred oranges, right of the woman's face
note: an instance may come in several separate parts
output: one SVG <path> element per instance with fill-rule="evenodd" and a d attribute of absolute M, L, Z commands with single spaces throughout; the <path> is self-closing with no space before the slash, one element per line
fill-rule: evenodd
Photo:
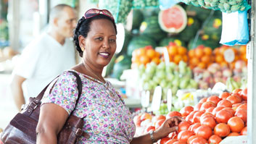
<path fill-rule="evenodd" d="M 139 66 L 144 64 L 146 66 L 149 62 L 160 63 L 160 53 L 154 50 L 152 46 L 145 46 L 144 48 L 138 48 L 133 51 L 131 58 L 132 65 Z"/>

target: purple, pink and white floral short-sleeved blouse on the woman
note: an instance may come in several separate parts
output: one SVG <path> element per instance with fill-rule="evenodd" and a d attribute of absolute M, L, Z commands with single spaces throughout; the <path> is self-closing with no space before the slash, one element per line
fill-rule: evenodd
<path fill-rule="evenodd" d="M 74 71 L 74 70 L 73 70 Z M 75 71 L 76 72 L 76 71 Z M 77 72 L 82 80 L 82 94 L 78 98 L 76 77 L 71 72 L 63 72 L 52 87 L 47 88 L 43 103 L 56 103 L 62 106 L 68 114 L 73 111 L 77 117 L 84 117 L 83 131 L 88 132 L 90 138 L 81 137 L 81 143 L 130 143 L 135 134 L 135 124 L 130 111 L 115 88 L 106 81 L 99 82 L 92 77 L 86 78 Z M 96 82 L 94 82 L 95 80 Z"/>

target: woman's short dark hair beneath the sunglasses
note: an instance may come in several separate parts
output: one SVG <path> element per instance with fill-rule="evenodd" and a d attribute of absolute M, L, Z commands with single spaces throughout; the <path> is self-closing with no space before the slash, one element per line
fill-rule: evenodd
<path fill-rule="evenodd" d="M 84 38 L 87 37 L 89 31 L 90 31 L 90 25 L 93 20 L 99 20 L 99 19 L 107 19 L 110 20 L 114 27 L 115 27 L 115 33 L 117 34 L 117 26 L 115 25 L 114 20 L 112 20 L 110 17 L 107 17 L 104 14 L 99 14 L 94 17 L 85 19 L 84 17 L 81 17 L 80 20 L 78 21 L 78 25 L 75 27 L 74 31 L 74 43 L 75 43 L 75 48 L 79 53 L 79 56 L 83 57 L 83 51 L 81 50 L 79 46 L 79 40 L 78 37 L 79 35 L 83 35 Z"/>

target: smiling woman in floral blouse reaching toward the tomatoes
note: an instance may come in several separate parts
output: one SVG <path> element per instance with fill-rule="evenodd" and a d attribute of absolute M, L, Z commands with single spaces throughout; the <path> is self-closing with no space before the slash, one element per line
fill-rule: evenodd
<path fill-rule="evenodd" d="M 102 77 L 102 69 L 115 53 L 116 35 L 114 18 L 106 9 L 89 9 L 79 20 L 74 41 L 83 62 L 72 70 L 82 80 L 82 94 L 75 107 L 78 98 L 75 76 L 70 72 L 59 76 L 51 93 L 45 93 L 42 99 L 37 143 L 57 143 L 57 134 L 73 110 L 75 116 L 84 117 L 83 131 L 90 135 L 88 139 L 81 137 L 78 143 L 147 144 L 177 130 L 181 118 L 173 117 L 154 133 L 133 137 L 135 124 L 131 113 L 110 82 Z"/>

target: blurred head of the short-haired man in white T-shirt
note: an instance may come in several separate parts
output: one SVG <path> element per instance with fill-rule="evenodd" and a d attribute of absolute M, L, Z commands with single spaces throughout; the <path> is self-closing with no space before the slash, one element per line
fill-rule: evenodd
<path fill-rule="evenodd" d="M 49 17 L 51 30 L 63 38 L 73 37 L 76 20 L 75 10 L 66 4 L 59 4 L 51 9 Z"/>

